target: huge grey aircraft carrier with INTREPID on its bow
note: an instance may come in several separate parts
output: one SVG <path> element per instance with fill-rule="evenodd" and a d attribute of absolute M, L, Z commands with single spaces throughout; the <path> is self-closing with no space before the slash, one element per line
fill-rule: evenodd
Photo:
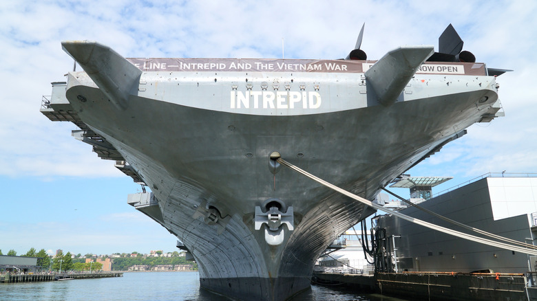
<path fill-rule="evenodd" d="M 462 41 L 378 61 L 127 59 L 94 41 L 62 47 L 83 71 L 53 82 L 41 112 L 76 124 L 74 137 L 150 188 L 129 203 L 184 244 L 202 287 L 239 300 L 308 289 L 319 254 L 375 212 L 278 157 L 372 199 L 502 113 L 498 70 L 461 62 Z"/>

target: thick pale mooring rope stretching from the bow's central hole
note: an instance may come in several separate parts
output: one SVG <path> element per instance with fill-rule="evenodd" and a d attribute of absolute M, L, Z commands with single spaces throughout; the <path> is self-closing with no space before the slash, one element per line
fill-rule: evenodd
<path fill-rule="evenodd" d="M 433 223 L 428 223 L 426 221 L 421 221 L 420 219 L 414 219 L 413 217 L 411 216 L 407 216 L 405 214 L 402 214 L 402 213 L 399 213 L 397 211 L 393 211 L 393 210 L 390 210 L 388 208 L 384 208 L 383 206 L 381 205 L 378 205 L 376 203 L 373 203 L 372 201 L 368 201 L 367 199 L 364 199 L 363 197 L 359 197 L 357 196 L 356 194 L 352 194 L 351 192 L 348 192 L 344 189 L 341 189 L 331 183 L 328 183 L 327 181 L 324 181 L 323 179 L 320 179 L 319 177 L 315 177 L 314 175 L 311 175 L 309 172 L 306 172 L 306 170 L 302 170 L 301 168 L 298 168 L 297 166 L 294 166 L 293 164 L 290 164 L 288 163 L 287 161 L 285 161 L 284 159 L 282 159 L 281 157 L 277 158 L 276 161 L 288 168 L 290 168 L 291 170 L 295 170 L 295 172 L 298 172 L 299 174 L 301 175 L 304 175 L 310 179 L 313 179 L 313 181 L 317 181 L 317 183 L 320 183 L 332 190 L 335 190 L 336 192 L 339 192 L 341 194 L 344 194 L 345 196 L 347 197 L 350 197 L 351 199 L 354 199 L 356 201 L 359 201 L 360 203 L 364 203 L 364 205 L 368 205 L 372 208 L 375 208 L 377 210 L 381 210 L 383 212 L 386 212 L 388 214 L 392 214 L 394 216 L 397 216 L 399 217 L 399 219 L 404 219 L 406 221 L 410 221 L 411 223 L 416 223 L 418 225 L 422 225 L 423 227 L 428 227 L 432 230 L 436 230 L 436 231 L 439 231 L 439 232 L 443 232 L 445 234 L 450 234 L 452 236 L 456 236 L 456 237 L 459 237 L 459 238 L 464 238 L 468 241 L 474 241 L 476 243 L 482 243 L 483 245 L 490 245 L 492 247 L 499 247 L 501 249 L 507 249 L 509 251 L 516 251 L 516 252 L 520 252 L 520 253 L 523 253 L 523 254 L 529 254 L 529 255 L 537 255 L 537 250 L 535 249 L 526 249 L 524 247 L 519 247 L 517 245 L 509 245 L 507 243 L 500 243 L 498 241 L 492 241 L 490 239 L 487 239 L 487 238 L 481 238 L 481 237 L 478 237 L 478 236 L 474 236 L 474 235 L 471 235 L 471 234 L 465 234 L 463 232 L 459 232 L 459 231 L 456 231 L 456 230 L 451 230 L 451 229 L 448 229 L 446 227 L 441 227 L 439 225 L 434 225 Z"/>

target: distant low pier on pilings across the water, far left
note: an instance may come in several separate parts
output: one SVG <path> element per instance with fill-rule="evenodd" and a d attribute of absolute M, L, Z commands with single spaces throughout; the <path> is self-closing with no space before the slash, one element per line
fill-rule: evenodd
<path fill-rule="evenodd" d="M 123 272 L 105 271 L 99 273 L 56 273 L 56 274 L 4 274 L 0 283 L 41 282 L 56 280 L 94 279 L 123 277 Z"/>

